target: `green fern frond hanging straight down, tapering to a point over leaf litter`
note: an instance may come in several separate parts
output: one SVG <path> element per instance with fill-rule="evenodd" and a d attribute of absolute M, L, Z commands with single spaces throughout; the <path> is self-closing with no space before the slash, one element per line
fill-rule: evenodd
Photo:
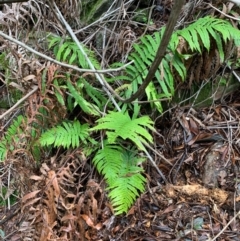
<path fill-rule="evenodd" d="M 144 191 L 146 179 L 141 175 L 143 169 L 138 166 L 143 161 L 137 150 L 124 150 L 114 145 L 106 145 L 95 155 L 93 163 L 108 184 L 108 196 L 116 215 L 127 212 Z"/>

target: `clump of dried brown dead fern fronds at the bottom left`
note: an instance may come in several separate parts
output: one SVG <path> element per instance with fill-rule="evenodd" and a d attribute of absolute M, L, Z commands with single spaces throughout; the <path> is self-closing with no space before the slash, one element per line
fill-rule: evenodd
<path fill-rule="evenodd" d="M 80 155 L 67 153 L 60 161 L 43 163 L 40 174 L 31 176 L 35 190 L 22 199 L 22 212 L 27 215 L 20 228 L 23 238 L 84 240 L 88 228 L 94 233 L 102 228 L 98 212 L 102 204 L 97 201 L 101 198 L 96 196 L 103 199 L 104 193 L 94 180 L 83 183 L 88 174 Z"/>

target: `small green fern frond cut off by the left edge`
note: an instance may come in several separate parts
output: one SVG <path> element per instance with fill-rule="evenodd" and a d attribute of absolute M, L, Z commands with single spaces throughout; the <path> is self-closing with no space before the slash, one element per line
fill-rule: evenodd
<path fill-rule="evenodd" d="M 19 141 L 19 134 L 23 133 L 21 129 L 21 124 L 24 118 L 22 115 L 18 116 L 16 120 L 9 126 L 4 137 L 0 141 L 0 161 L 3 161 L 8 151 L 12 151 L 14 144 Z M 14 144 L 13 144 L 14 143 Z"/>

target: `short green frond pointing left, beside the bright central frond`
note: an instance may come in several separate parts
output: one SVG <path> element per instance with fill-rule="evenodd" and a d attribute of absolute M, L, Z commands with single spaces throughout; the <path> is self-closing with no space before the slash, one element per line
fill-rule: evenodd
<path fill-rule="evenodd" d="M 81 125 L 79 121 L 63 122 L 40 137 L 42 146 L 54 145 L 54 147 L 63 146 L 64 148 L 78 147 L 80 142 L 85 143 L 89 139 L 88 124 Z"/>

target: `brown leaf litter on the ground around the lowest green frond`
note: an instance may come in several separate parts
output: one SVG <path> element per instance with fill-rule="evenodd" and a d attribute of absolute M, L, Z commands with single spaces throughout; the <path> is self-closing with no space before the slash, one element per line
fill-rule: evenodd
<path fill-rule="evenodd" d="M 45 169 L 61 172 L 74 165 L 81 174 L 75 180 L 79 187 L 86 186 L 85 192 L 78 193 L 80 206 L 68 207 L 68 215 L 70 210 L 81 212 L 79 240 L 239 241 L 239 103 L 237 91 L 225 104 L 198 111 L 176 108 L 159 118 L 156 153 L 152 155 L 169 183 L 163 183 L 155 168 L 146 164 L 146 192 L 126 215 L 113 215 L 104 182 L 87 162 L 76 164 L 79 163 L 75 160 L 76 151 L 62 154 L 58 164 L 46 161 Z M 39 171 L 29 175 L 38 176 L 37 182 L 42 181 Z M 69 189 L 66 195 L 74 199 L 76 193 Z M 27 223 L 24 225 L 25 213 L 20 210 L 20 203 L 10 210 L 1 207 L 0 228 L 5 232 L 4 240 L 21 240 L 18 230 L 23 231 Z"/>

